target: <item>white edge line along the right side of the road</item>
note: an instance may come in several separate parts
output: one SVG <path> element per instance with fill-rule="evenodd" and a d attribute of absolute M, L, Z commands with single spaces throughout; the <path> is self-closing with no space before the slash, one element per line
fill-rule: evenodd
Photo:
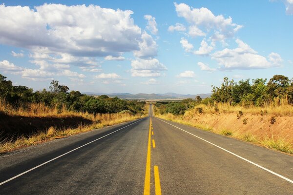
<path fill-rule="evenodd" d="M 160 118 L 157 118 L 157 117 L 156 117 L 156 119 L 161 120 Z M 171 126 L 173 126 L 173 127 L 176 127 L 175 125 L 172 125 L 172 124 L 170 124 L 170 123 L 168 123 L 168 122 L 166 122 L 166 121 L 164 121 L 164 120 L 161 120 L 161 121 L 163 121 L 163 122 L 165 122 L 165 123 L 167 123 L 167 124 L 169 124 L 169 125 L 171 125 Z M 230 152 L 229 150 L 226 150 L 226 149 L 224 149 L 224 148 L 222 148 L 222 147 L 220 147 L 220 146 L 217 146 L 216 144 L 213 144 L 213 143 L 211 143 L 211 142 L 209 142 L 209 141 L 207 141 L 207 140 L 205 140 L 205 139 L 203 139 L 203 138 L 201 138 L 201 137 L 195 136 L 195 135 L 189 133 L 188 131 L 185 131 L 185 130 L 179 128 L 179 127 L 176 127 L 176 128 L 177 128 L 177 129 L 180 129 L 180 130 L 182 130 L 182 131 L 184 131 L 184 132 L 186 132 L 186 133 L 188 133 L 188 134 L 190 134 L 190 135 L 192 135 L 192 136 L 194 136 L 194 137 L 197 137 L 197 138 L 199 138 L 199 139 L 201 139 L 201 140 L 203 140 L 203 141 L 205 141 L 205 142 L 208 142 L 209 144 L 211 144 L 211 145 L 213 145 L 213 146 L 215 146 L 215 147 L 217 147 L 217 148 L 220 148 L 221 150 L 224 150 L 225 152 L 228 152 L 228 153 L 230 153 L 231 155 L 237 156 L 238 158 L 241 158 L 242 160 L 245 160 L 245 161 L 247 161 L 247 162 L 249 162 L 249 163 L 251 163 L 251 164 L 253 164 L 253 165 L 255 165 L 255 166 L 257 166 L 257 167 L 259 167 L 259 168 L 261 168 L 261 169 L 263 169 L 263 170 L 265 170 L 265 171 L 267 171 L 267 172 L 270 172 L 271 174 L 273 174 L 273 175 L 275 175 L 275 176 L 281 177 L 282 179 L 285 179 L 285 180 L 289 181 L 290 183 L 293 183 L 293 180 L 291 180 L 291 179 L 289 179 L 289 178 L 287 178 L 287 177 L 281 176 L 281 175 L 279 175 L 279 174 L 277 174 L 277 173 L 275 173 L 275 172 L 273 172 L 273 171 L 271 171 L 271 170 L 269 170 L 269 169 L 267 169 L 267 168 L 265 168 L 265 167 L 263 167 L 263 166 L 260 166 L 260 165 L 256 164 L 255 162 L 252 162 L 252 161 L 250 161 L 250 160 L 248 160 L 248 159 L 246 159 L 246 158 L 244 158 L 244 157 L 242 157 L 242 156 L 236 155 L 235 153 L 232 153 L 232 152 Z"/>

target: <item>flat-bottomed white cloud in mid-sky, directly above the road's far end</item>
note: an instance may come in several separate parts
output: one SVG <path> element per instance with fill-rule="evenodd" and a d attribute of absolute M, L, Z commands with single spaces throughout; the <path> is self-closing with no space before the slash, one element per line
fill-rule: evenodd
<path fill-rule="evenodd" d="M 166 66 L 158 59 L 136 59 L 131 61 L 132 77 L 160 77 Z"/>

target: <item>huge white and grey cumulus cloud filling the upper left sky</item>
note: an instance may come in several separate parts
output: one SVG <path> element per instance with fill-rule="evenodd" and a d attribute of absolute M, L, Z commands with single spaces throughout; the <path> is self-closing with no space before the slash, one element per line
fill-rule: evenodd
<path fill-rule="evenodd" d="M 139 50 L 141 29 L 130 10 L 97 5 L 0 5 L 0 43 L 25 48 L 46 47 L 72 56 L 118 56 Z"/>

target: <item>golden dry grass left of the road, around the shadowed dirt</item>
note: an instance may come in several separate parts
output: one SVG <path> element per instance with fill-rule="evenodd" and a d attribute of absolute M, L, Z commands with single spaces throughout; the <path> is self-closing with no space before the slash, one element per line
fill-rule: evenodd
<path fill-rule="evenodd" d="M 24 108 L 15 108 L 4 101 L 0 100 L 0 112 L 8 114 L 10 116 L 22 116 L 22 117 L 84 117 L 86 119 L 90 119 L 93 121 L 91 125 L 82 126 L 80 125 L 78 128 L 67 128 L 67 129 L 55 129 L 54 127 L 50 127 L 47 132 L 40 132 L 30 137 L 18 137 L 17 140 L 3 140 L 0 142 L 0 153 L 5 153 L 8 151 L 12 151 L 16 148 L 20 148 L 22 146 L 29 146 L 40 143 L 42 141 L 47 141 L 56 138 L 67 137 L 75 134 L 79 134 L 82 132 L 91 131 L 94 129 L 99 129 L 105 126 L 111 126 L 115 124 L 119 124 L 122 122 L 134 120 L 137 118 L 145 117 L 147 114 L 147 109 L 144 115 L 131 115 L 129 113 L 115 113 L 115 114 L 97 114 L 96 120 L 94 121 L 94 116 L 89 113 L 83 112 L 73 112 L 66 110 L 63 107 L 62 111 L 59 112 L 57 108 L 49 108 L 42 103 L 39 104 L 28 104 L 25 105 Z M 147 107 L 147 105 L 146 105 Z"/>

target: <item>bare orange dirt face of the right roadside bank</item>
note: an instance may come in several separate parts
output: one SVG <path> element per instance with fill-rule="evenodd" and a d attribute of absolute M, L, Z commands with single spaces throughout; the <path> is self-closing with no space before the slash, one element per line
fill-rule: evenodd
<path fill-rule="evenodd" d="M 249 133 L 260 139 L 266 137 L 284 138 L 293 143 L 293 117 L 290 116 L 243 114 L 239 117 L 237 113 L 221 113 L 189 114 L 183 116 L 183 119 L 207 125 L 218 133 L 226 129 L 241 135 Z"/>

